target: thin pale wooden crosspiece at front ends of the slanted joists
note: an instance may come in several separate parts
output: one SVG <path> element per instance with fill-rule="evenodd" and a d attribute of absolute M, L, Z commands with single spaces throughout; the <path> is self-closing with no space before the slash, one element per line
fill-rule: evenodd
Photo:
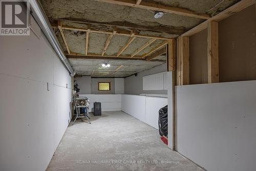
<path fill-rule="evenodd" d="M 53 28 L 56 28 L 57 26 L 55 24 L 52 24 Z M 78 28 L 78 27 L 71 27 L 71 26 L 64 26 L 62 25 L 62 29 L 66 29 L 66 30 L 78 30 L 78 31 L 84 31 L 87 32 L 88 29 L 87 28 Z M 100 31 L 100 30 L 96 30 L 96 29 L 90 29 L 91 33 L 105 33 L 105 34 L 113 34 L 113 31 Z M 117 35 L 124 35 L 124 36 L 131 36 L 131 32 L 127 31 L 127 30 L 121 30 L 121 29 L 116 29 L 116 33 Z M 134 37 L 144 37 L 144 38 L 157 38 L 157 39 L 161 39 L 161 40 L 170 40 L 173 38 L 166 38 L 166 37 L 161 37 L 161 36 L 151 36 L 151 35 L 142 35 L 139 33 L 134 34 Z"/>

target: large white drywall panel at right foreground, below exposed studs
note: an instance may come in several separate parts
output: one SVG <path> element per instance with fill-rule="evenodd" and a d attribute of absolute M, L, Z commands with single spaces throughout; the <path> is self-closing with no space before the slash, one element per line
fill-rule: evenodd
<path fill-rule="evenodd" d="M 256 80 L 176 87 L 179 153 L 209 171 L 256 168 Z"/>

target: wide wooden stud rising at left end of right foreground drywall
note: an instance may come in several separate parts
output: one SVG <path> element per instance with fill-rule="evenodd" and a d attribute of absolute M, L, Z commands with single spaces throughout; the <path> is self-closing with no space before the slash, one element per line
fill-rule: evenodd
<path fill-rule="evenodd" d="M 189 84 L 189 37 L 178 38 L 177 85 Z"/>

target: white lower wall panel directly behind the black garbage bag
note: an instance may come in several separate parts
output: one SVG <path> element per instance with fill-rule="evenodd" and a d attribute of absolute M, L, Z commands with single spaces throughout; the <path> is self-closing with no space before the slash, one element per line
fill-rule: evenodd
<path fill-rule="evenodd" d="M 146 97 L 145 123 L 158 130 L 159 110 L 167 105 L 167 98 Z"/>

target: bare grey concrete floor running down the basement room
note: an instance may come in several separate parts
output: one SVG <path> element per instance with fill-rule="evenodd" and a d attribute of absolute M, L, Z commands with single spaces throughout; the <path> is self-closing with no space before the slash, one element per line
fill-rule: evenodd
<path fill-rule="evenodd" d="M 78 120 L 68 127 L 47 170 L 203 170 L 124 112 L 90 117 L 92 124 Z"/>

